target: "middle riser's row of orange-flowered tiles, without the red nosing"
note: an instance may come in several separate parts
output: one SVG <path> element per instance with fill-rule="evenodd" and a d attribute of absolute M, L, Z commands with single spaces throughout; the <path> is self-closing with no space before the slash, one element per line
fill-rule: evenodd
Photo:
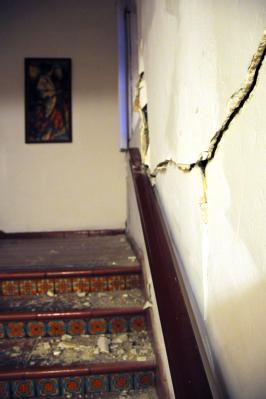
<path fill-rule="evenodd" d="M 118 334 L 146 329 L 143 315 L 114 316 L 91 319 L 10 321 L 0 323 L 0 338 L 58 337 L 83 334 Z M 1 397 L 0 397 L 1 398 Z"/>

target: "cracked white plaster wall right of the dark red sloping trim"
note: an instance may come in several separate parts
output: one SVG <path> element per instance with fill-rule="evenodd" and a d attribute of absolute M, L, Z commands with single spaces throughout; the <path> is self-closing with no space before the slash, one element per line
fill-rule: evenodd
<path fill-rule="evenodd" d="M 151 169 L 208 149 L 262 38 L 262 0 L 139 0 L 139 57 L 147 83 Z M 254 93 L 207 167 L 156 179 L 230 398 L 266 397 L 266 61 Z M 138 134 L 138 131 L 135 132 Z M 176 354 L 178 356 L 178 354 Z"/>

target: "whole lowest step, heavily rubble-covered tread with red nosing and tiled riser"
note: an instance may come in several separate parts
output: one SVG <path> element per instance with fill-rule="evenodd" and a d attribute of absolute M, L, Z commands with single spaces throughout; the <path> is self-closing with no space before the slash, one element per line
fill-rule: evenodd
<path fill-rule="evenodd" d="M 155 383 L 155 368 L 146 331 L 1 340 L 0 397 L 145 389 Z"/>

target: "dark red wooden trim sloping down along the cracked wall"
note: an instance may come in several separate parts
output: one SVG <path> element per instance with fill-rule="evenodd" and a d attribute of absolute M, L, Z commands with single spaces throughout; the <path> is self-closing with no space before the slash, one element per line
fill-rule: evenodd
<path fill-rule="evenodd" d="M 139 150 L 129 157 L 175 396 L 212 398 L 166 222 Z"/>

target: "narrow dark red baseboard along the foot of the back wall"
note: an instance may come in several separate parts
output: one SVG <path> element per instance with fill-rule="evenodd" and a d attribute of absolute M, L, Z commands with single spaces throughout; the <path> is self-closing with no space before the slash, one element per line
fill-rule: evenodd
<path fill-rule="evenodd" d="M 125 229 L 39 231 L 39 232 L 15 232 L 15 233 L 5 233 L 4 231 L 0 231 L 0 239 L 71 238 L 71 237 L 114 236 L 119 234 L 125 234 Z"/>

